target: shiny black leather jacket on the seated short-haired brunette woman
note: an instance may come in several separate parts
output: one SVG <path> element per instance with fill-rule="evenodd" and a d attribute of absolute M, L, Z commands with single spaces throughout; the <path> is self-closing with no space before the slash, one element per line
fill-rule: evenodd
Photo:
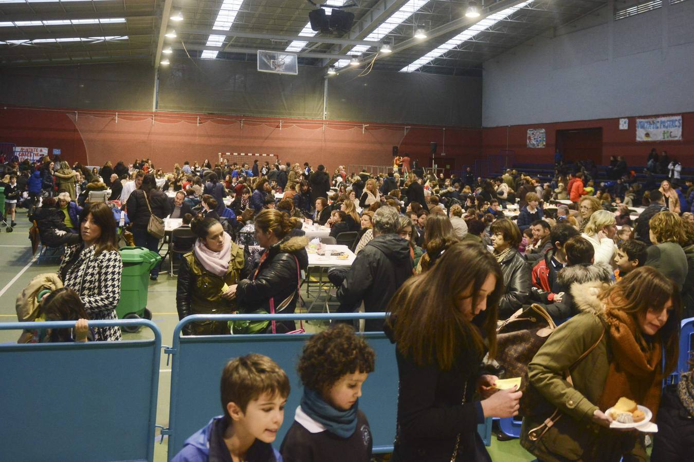
<path fill-rule="evenodd" d="M 499 319 L 503 320 L 509 319 L 530 299 L 532 268 L 516 249 L 512 249 L 500 265 L 506 287 L 499 303 Z"/>

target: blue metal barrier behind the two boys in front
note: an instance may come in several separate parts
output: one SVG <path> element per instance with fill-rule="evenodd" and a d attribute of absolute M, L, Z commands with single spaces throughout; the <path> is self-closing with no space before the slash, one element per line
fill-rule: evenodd
<path fill-rule="evenodd" d="M 337 320 L 337 319 L 384 319 L 385 313 L 341 313 L 341 314 L 196 314 L 186 317 L 174 330 L 170 354 L 171 400 L 169 405 L 169 427 L 162 435 L 169 438 L 169 459 L 183 447 L 185 440 L 201 429 L 213 416 L 223 413 L 219 402 L 219 380 L 221 371 L 232 357 L 248 353 L 260 353 L 271 357 L 282 367 L 292 390 L 285 408 L 285 422 L 273 445 L 280 447 L 287 429 L 294 421 L 294 411 L 302 395 L 301 381 L 296 364 L 303 344 L 312 334 L 277 335 L 206 335 L 180 336 L 183 326 L 194 321 L 214 319 L 216 321 L 266 321 L 286 320 Z M 375 371 L 364 382 L 360 404 L 369 418 L 373 434 L 373 453 L 393 450 L 398 409 L 398 364 L 395 346 L 383 332 L 364 332 L 364 338 L 376 353 Z M 480 425 L 478 431 L 486 445 L 490 444 L 491 419 Z"/>

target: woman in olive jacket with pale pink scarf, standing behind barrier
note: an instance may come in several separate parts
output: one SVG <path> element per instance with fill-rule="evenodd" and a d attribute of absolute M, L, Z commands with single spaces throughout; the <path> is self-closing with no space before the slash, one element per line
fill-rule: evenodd
<path fill-rule="evenodd" d="M 234 291 L 244 267 L 244 251 L 213 218 L 195 218 L 190 223 L 198 237 L 193 251 L 183 256 L 178 269 L 176 308 L 178 319 L 190 314 L 230 314 L 237 310 Z M 189 323 L 184 335 L 228 334 L 226 321 Z"/>

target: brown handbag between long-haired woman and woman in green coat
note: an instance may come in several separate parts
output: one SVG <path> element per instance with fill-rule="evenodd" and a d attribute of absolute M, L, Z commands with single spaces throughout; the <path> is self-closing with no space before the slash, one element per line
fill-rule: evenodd
<path fill-rule="evenodd" d="M 515 312 L 496 329 L 496 361 L 505 368 L 506 377 L 521 377 L 519 390 L 523 391 L 523 398 L 518 409 L 520 416 L 543 411 L 546 401 L 538 393 L 527 393 L 532 388 L 529 387 L 527 366 L 556 328 L 547 310 L 534 303 Z"/>

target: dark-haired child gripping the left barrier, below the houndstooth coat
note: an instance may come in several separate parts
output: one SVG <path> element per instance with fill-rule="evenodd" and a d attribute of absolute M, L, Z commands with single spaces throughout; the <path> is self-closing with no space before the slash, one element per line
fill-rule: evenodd
<path fill-rule="evenodd" d="M 61 287 L 44 295 L 35 319 L 44 321 L 77 321 L 71 329 L 24 330 L 18 344 L 42 344 L 53 342 L 85 342 L 94 340 L 94 332 L 87 323 L 87 312 L 80 296 L 68 287 Z"/>

